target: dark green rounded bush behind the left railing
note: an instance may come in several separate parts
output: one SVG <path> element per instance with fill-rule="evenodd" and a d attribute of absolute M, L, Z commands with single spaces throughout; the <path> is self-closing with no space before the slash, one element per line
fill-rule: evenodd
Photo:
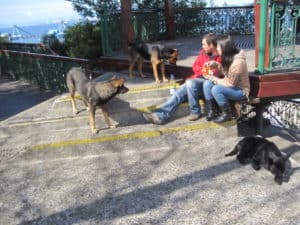
<path fill-rule="evenodd" d="M 70 57 L 98 59 L 102 53 L 100 25 L 78 23 L 67 28 L 65 45 Z"/>

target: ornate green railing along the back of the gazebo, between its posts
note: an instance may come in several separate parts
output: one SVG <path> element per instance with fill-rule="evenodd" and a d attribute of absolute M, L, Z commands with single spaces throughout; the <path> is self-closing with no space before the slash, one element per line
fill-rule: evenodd
<path fill-rule="evenodd" d="M 177 37 L 191 37 L 208 32 L 217 34 L 253 34 L 254 11 L 248 7 L 176 8 L 174 23 Z M 137 41 L 157 41 L 166 37 L 163 9 L 132 12 Z M 106 12 L 101 18 L 103 55 L 122 48 L 120 12 Z"/>

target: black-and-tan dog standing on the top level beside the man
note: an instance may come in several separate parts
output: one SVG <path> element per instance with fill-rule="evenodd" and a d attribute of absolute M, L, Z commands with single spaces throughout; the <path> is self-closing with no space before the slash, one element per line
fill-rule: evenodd
<path fill-rule="evenodd" d="M 176 65 L 178 49 L 168 48 L 162 45 L 152 45 L 143 42 L 133 42 L 128 45 L 128 56 L 130 78 L 133 78 L 133 67 L 136 62 L 138 63 L 140 76 L 145 77 L 142 71 L 143 63 L 144 60 L 150 60 L 155 81 L 156 83 L 160 83 L 157 69 L 158 65 L 160 65 L 163 81 L 168 81 L 165 74 L 165 63 Z"/>

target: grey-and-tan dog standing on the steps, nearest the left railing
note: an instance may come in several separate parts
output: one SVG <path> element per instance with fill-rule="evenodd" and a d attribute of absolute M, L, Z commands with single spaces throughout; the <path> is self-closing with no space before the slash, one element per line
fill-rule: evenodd
<path fill-rule="evenodd" d="M 124 82 L 124 79 L 116 79 L 115 76 L 106 82 L 92 82 L 87 79 L 79 67 L 73 67 L 67 73 L 67 87 L 71 95 L 73 113 L 78 113 L 74 98 L 75 91 L 77 91 L 85 106 L 90 111 L 90 127 L 93 134 L 98 132 L 95 128 L 95 112 L 97 107 L 102 109 L 106 124 L 110 128 L 115 127 L 110 122 L 105 104 L 115 95 L 128 91 L 128 88 L 124 86 Z"/>

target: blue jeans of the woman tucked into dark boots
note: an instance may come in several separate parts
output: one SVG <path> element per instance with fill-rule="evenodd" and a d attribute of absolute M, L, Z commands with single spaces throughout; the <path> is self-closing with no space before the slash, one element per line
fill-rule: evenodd
<path fill-rule="evenodd" d="M 203 93 L 205 100 L 215 99 L 219 106 L 229 104 L 229 100 L 246 99 L 242 88 L 239 87 L 225 87 L 223 85 L 214 84 L 210 80 L 205 80 L 203 83 Z"/>

